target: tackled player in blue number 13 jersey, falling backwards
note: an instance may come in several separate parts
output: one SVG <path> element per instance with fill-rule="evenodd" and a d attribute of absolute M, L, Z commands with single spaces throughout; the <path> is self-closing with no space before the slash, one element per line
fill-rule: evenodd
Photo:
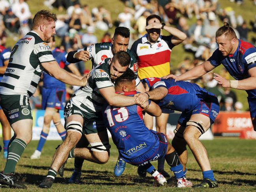
<path fill-rule="evenodd" d="M 116 93 L 133 97 L 138 93 L 135 78 L 136 75 L 133 71 L 127 70 L 115 82 Z M 125 162 L 141 166 L 154 177 L 156 184 L 164 185 L 167 182 L 166 179 L 155 170 L 150 162 L 158 158 L 165 158 L 174 172 L 177 186 L 192 186 L 192 183 L 183 177 L 183 166 L 167 136 L 161 132 L 149 130 L 143 122 L 143 111 L 152 116 L 161 115 L 161 109 L 157 104 L 148 100 L 142 106 L 136 104 L 127 107 L 108 105 L 103 110 L 105 125 L 112 135 L 120 157 Z"/>

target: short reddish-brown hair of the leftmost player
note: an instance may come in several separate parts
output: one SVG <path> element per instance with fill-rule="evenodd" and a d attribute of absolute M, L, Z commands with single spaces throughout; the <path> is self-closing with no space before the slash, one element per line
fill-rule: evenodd
<path fill-rule="evenodd" d="M 47 22 L 56 22 L 57 16 L 55 13 L 51 13 L 49 10 L 41 10 L 36 13 L 32 21 L 32 29 L 36 29 L 41 24 L 47 24 Z"/>

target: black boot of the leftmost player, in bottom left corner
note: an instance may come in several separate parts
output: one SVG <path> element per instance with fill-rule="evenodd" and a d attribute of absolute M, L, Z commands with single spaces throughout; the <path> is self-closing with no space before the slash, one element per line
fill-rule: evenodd
<path fill-rule="evenodd" d="M 21 188 L 26 189 L 24 183 L 22 183 L 21 179 L 18 178 L 15 174 L 4 174 L 3 172 L 0 173 L 0 184 L 7 185 L 11 188 Z"/>

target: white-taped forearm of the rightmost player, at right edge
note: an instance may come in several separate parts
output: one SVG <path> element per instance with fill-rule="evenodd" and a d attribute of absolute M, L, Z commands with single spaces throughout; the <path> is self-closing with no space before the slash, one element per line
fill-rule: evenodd
<path fill-rule="evenodd" d="M 238 80 L 238 81 L 231 80 L 231 88 L 235 88 L 237 86 L 235 89 L 241 89 L 241 90 L 256 89 L 255 82 L 256 82 L 256 77 L 254 77 L 254 76 L 243 79 L 243 80 Z"/>

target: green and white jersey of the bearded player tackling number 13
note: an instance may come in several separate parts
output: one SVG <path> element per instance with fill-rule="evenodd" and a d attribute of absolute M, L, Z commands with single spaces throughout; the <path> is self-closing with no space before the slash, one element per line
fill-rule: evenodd
<path fill-rule="evenodd" d="M 99 93 L 99 89 L 114 86 L 110 79 L 109 65 L 110 58 L 107 58 L 101 65 L 92 69 L 88 83 L 75 91 L 70 100 L 71 104 L 91 114 L 101 112 L 106 100 Z"/>

